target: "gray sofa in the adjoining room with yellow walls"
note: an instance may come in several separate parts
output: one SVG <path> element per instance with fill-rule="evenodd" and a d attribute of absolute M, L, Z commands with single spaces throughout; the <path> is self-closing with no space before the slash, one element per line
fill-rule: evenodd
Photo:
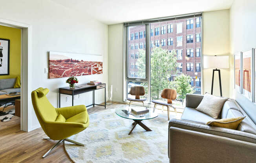
<path fill-rule="evenodd" d="M 20 92 L 20 88 L 13 88 L 16 78 L 0 79 L 0 95 L 10 92 Z"/>

